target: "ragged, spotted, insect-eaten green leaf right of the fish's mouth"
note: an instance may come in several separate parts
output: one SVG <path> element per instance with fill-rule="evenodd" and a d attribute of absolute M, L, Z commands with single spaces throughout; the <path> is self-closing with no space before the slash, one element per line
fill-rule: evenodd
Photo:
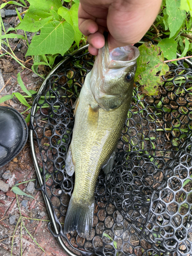
<path fill-rule="evenodd" d="M 169 70 L 168 66 L 163 63 L 163 52 L 160 47 L 147 43 L 140 46 L 139 51 L 135 80 L 143 86 L 143 93 L 157 95 L 158 87 L 162 84 L 161 76 Z"/>

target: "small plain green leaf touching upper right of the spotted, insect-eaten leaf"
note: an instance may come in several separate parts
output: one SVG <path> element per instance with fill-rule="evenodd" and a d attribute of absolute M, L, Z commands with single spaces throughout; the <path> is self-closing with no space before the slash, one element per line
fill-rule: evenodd
<path fill-rule="evenodd" d="M 166 59 L 177 58 L 177 42 L 173 38 L 162 39 L 157 46 L 161 48 Z"/>

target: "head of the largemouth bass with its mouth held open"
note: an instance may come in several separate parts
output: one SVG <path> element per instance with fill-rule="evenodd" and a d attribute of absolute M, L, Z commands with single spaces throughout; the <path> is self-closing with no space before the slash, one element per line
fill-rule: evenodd
<path fill-rule="evenodd" d="M 133 92 L 139 50 L 134 46 L 119 47 L 109 52 L 108 42 L 99 49 L 90 89 L 101 108 L 118 108 Z"/>

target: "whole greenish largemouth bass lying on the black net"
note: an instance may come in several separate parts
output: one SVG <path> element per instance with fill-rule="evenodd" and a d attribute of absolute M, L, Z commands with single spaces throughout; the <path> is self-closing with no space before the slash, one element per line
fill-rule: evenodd
<path fill-rule="evenodd" d="M 74 106 L 75 123 L 66 157 L 66 172 L 75 185 L 64 233 L 90 238 L 95 187 L 101 168 L 108 175 L 133 94 L 139 50 L 134 46 L 99 49 Z"/>

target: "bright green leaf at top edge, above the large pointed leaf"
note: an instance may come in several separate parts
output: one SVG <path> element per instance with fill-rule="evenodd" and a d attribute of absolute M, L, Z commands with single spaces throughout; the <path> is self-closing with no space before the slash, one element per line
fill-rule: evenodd
<path fill-rule="evenodd" d="M 40 28 L 53 19 L 53 13 L 50 13 L 50 10 L 57 12 L 58 8 L 62 6 L 60 0 L 29 0 L 29 3 L 29 10 L 17 27 L 17 29 L 29 32 L 39 31 Z"/>

